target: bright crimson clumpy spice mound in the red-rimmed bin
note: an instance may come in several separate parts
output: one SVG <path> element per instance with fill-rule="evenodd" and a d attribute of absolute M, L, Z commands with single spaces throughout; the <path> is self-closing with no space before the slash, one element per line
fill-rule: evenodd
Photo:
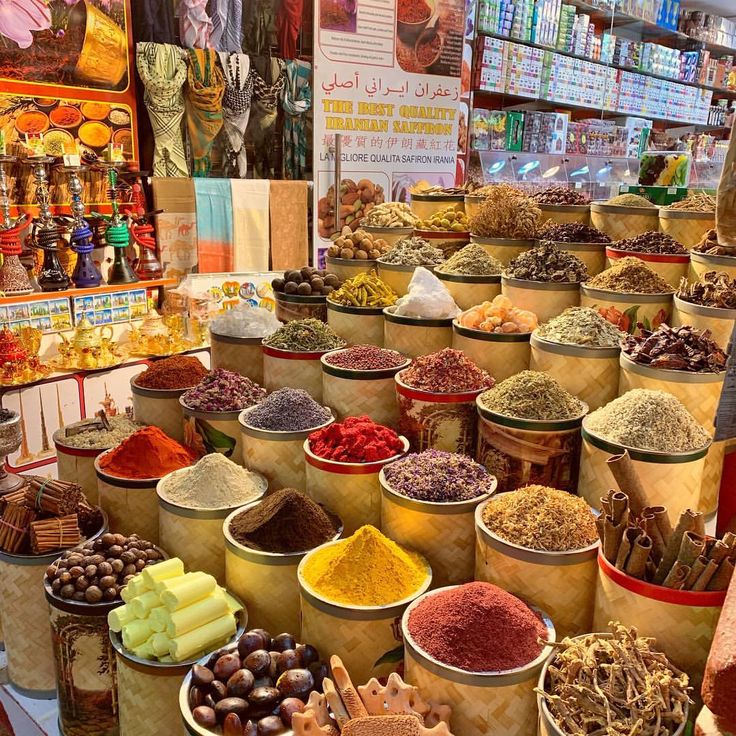
<path fill-rule="evenodd" d="M 399 435 L 370 417 L 348 417 L 309 435 L 309 449 L 325 460 L 374 463 L 398 455 L 404 446 Z"/>

